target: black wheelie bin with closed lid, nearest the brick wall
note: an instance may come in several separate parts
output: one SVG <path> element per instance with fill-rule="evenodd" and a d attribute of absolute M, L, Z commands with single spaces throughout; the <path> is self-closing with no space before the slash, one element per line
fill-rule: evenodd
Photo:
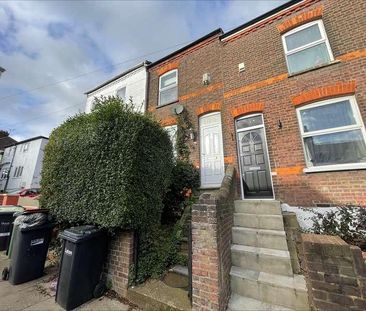
<path fill-rule="evenodd" d="M 72 227 L 60 234 L 64 240 L 56 302 L 66 310 L 101 296 L 107 253 L 106 232 L 94 226 Z"/>

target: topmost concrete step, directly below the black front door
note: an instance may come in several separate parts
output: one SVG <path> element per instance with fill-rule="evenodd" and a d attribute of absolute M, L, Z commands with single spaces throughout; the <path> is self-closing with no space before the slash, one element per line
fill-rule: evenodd
<path fill-rule="evenodd" d="M 236 213 L 281 215 L 281 205 L 275 200 L 237 200 L 235 201 Z"/>

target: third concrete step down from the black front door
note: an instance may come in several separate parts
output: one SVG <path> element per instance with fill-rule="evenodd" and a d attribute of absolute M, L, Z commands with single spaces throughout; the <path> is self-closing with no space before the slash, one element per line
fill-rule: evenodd
<path fill-rule="evenodd" d="M 233 227 L 233 244 L 287 251 L 285 231 Z"/>

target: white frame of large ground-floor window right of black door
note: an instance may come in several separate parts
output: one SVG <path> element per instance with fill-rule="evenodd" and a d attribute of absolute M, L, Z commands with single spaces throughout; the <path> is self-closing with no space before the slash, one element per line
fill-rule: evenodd
<path fill-rule="evenodd" d="M 334 104 L 340 101 L 348 100 L 353 112 L 353 116 L 355 118 L 356 124 L 352 125 L 346 125 L 346 126 L 339 126 L 339 127 L 333 127 L 329 129 L 324 130 L 317 130 L 317 131 L 311 131 L 311 132 L 304 132 L 304 127 L 301 119 L 301 111 L 307 110 L 309 108 L 315 108 L 320 106 L 325 106 L 329 104 Z M 327 172 L 327 171 L 341 171 L 341 170 L 352 170 L 352 169 L 364 169 L 366 168 L 366 162 L 363 163 L 344 163 L 344 164 L 330 164 L 330 165 L 321 165 L 321 166 L 313 166 L 312 163 L 308 159 L 308 152 L 306 150 L 306 146 L 304 143 L 304 138 L 306 137 L 314 137 L 318 135 L 324 135 L 324 134 L 333 134 L 333 133 L 340 133 L 340 132 L 346 132 L 350 130 L 361 130 L 364 142 L 366 144 L 366 131 L 365 126 L 362 120 L 362 116 L 360 113 L 360 110 L 357 105 L 356 98 L 354 96 L 343 96 L 343 97 L 336 97 L 331 99 L 322 100 L 313 104 L 305 105 L 303 107 L 299 107 L 296 109 L 297 112 L 297 119 L 299 121 L 300 126 L 300 133 L 301 133 L 301 142 L 302 147 L 304 151 L 305 156 L 305 163 L 306 168 L 304 168 L 305 173 L 311 173 L 311 172 Z"/>

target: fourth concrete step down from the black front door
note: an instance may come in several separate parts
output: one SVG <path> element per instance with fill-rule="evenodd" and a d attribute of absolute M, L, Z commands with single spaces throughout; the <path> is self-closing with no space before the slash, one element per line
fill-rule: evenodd
<path fill-rule="evenodd" d="M 231 246 L 233 266 L 263 272 L 292 276 L 288 251 L 234 244 Z"/>

